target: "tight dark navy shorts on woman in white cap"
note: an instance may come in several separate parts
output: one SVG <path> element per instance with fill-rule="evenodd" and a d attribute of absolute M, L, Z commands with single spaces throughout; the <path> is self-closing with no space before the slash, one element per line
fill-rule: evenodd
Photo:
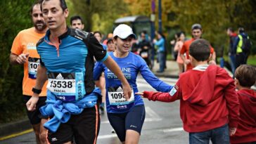
<path fill-rule="evenodd" d="M 145 119 L 144 105 L 136 105 L 129 112 L 108 113 L 108 120 L 117 133 L 120 141 L 125 141 L 125 134 L 128 129 L 137 131 L 141 134 L 142 125 Z"/>

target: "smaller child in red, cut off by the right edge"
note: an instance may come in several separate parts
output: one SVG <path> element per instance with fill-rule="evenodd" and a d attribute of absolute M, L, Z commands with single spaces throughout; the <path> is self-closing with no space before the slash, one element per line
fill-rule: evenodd
<path fill-rule="evenodd" d="M 240 102 L 240 121 L 231 143 L 256 144 L 256 92 L 250 89 L 256 81 L 256 68 L 240 65 L 235 72 Z"/>

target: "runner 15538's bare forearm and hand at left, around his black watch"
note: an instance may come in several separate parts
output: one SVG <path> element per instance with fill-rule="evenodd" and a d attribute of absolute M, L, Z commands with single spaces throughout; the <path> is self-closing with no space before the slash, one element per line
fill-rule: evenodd
<path fill-rule="evenodd" d="M 37 69 L 37 81 L 34 89 L 42 89 L 45 81 L 47 80 L 46 67 L 39 65 Z M 33 93 L 30 100 L 27 101 L 27 110 L 33 111 L 36 109 L 37 101 L 39 99 L 39 94 Z"/>

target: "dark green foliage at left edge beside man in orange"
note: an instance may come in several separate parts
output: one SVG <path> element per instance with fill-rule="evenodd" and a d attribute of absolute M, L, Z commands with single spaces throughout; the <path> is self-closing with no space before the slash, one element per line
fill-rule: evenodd
<path fill-rule="evenodd" d="M 13 39 L 20 30 L 31 27 L 30 6 L 34 1 L 0 1 L 0 123 L 24 114 L 23 67 L 9 64 Z"/>

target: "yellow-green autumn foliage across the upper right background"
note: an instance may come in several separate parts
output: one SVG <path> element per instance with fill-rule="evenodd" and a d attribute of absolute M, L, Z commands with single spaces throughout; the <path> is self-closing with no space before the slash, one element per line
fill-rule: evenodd
<path fill-rule="evenodd" d="M 151 1 L 125 0 L 133 15 L 150 15 Z M 156 4 L 155 25 L 158 27 L 158 0 Z M 182 30 L 191 34 L 191 25 L 203 26 L 203 37 L 209 40 L 217 51 L 227 44 L 226 28 L 245 27 L 256 44 L 256 1 L 253 0 L 162 0 L 162 26 L 165 33 Z M 254 45 L 256 52 L 256 46 Z"/>

